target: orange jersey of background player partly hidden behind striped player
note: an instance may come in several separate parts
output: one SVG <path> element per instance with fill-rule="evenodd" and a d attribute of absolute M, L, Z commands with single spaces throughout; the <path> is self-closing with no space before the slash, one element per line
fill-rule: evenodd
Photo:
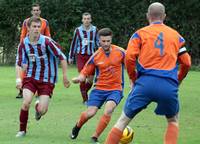
<path fill-rule="evenodd" d="M 40 33 L 45 35 L 45 36 L 51 36 L 50 34 L 50 29 L 49 29 L 49 23 L 46 19 L 40 18 L 42 25 L 41 25 L 41 29 L 40 29 Z M 22 31 L 21 31 L 21 35 L 20 35 L 20 42 L 22 42 L 22 40 L 27 36 L 28 34 L 28 29 L 27 29 L 27 22 L 28 22 L 29 18 L 25 19 L 22 25 Z"/>

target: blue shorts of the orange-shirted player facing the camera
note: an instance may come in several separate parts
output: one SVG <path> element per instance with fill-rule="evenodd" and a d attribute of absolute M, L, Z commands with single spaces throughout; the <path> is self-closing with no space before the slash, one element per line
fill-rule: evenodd
<path fill-rule="evenodd" d="M 98 90 L 93 89 L 89 95 L 87 106 L 96 106 L 101 108 L 104 102 L 114 101 L 116 105 L 119 104 L 123 95 L 120 90 Z"/>

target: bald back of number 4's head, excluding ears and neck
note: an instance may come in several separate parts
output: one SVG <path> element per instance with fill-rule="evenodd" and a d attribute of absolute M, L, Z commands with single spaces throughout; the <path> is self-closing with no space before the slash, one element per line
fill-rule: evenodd
<path fill-rule="evenodd" d="M 159 2 L 154 2 L 149 5 L 148 13 L 151 18 L 162 19 L 165 15 L 165 6 Z"/>

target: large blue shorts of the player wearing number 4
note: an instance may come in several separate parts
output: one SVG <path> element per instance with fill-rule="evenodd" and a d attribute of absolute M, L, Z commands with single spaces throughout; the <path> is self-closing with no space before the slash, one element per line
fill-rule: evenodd
<path fill-rule="evenodd" d="M 124 113 L 133 118 L 151 102 L 156 102 L 155 113 L 167 118 L 179 112 L 178 85 L 168 78 L 141 76 L 136 80 L 132 91 L 126 100 Z"/>

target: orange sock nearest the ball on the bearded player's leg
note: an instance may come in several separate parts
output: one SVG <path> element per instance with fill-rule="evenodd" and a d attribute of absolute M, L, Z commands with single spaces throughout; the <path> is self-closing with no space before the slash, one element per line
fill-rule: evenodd
<path fill-rule="evenodd" d="M 107 127 L 108 123 L 110 122 L 111 116 L 109 115 L 103 115 L 97 125 L 96 131 L 93 134 L 93 137 L 98 138 L 100 134 L 104 131 L 104 129 Z"/>

